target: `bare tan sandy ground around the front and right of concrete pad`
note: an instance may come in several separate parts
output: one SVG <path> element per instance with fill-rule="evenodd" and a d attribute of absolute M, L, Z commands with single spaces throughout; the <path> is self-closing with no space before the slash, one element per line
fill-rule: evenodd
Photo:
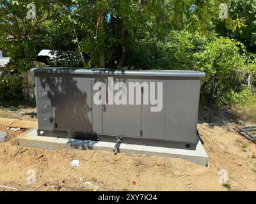
<path fill-rule="evenodd" d="M 0 186 L 19 191 L 256 191 L 256 145 L 237 133 L 226 115 L 211 122 L 207 115 L 200 115 L 198 123 L 207 167 L 170 157 L 31 149 L 15 143 L 22 131 L 8 131 L 10 139 L 0 143 Z M 72 159 L 80 166 L 70 168 Z M 225 187 L 218 183 L 220 169 L 228 171 Z M 33 172 L 36 182 L 28 184 Z"/>

